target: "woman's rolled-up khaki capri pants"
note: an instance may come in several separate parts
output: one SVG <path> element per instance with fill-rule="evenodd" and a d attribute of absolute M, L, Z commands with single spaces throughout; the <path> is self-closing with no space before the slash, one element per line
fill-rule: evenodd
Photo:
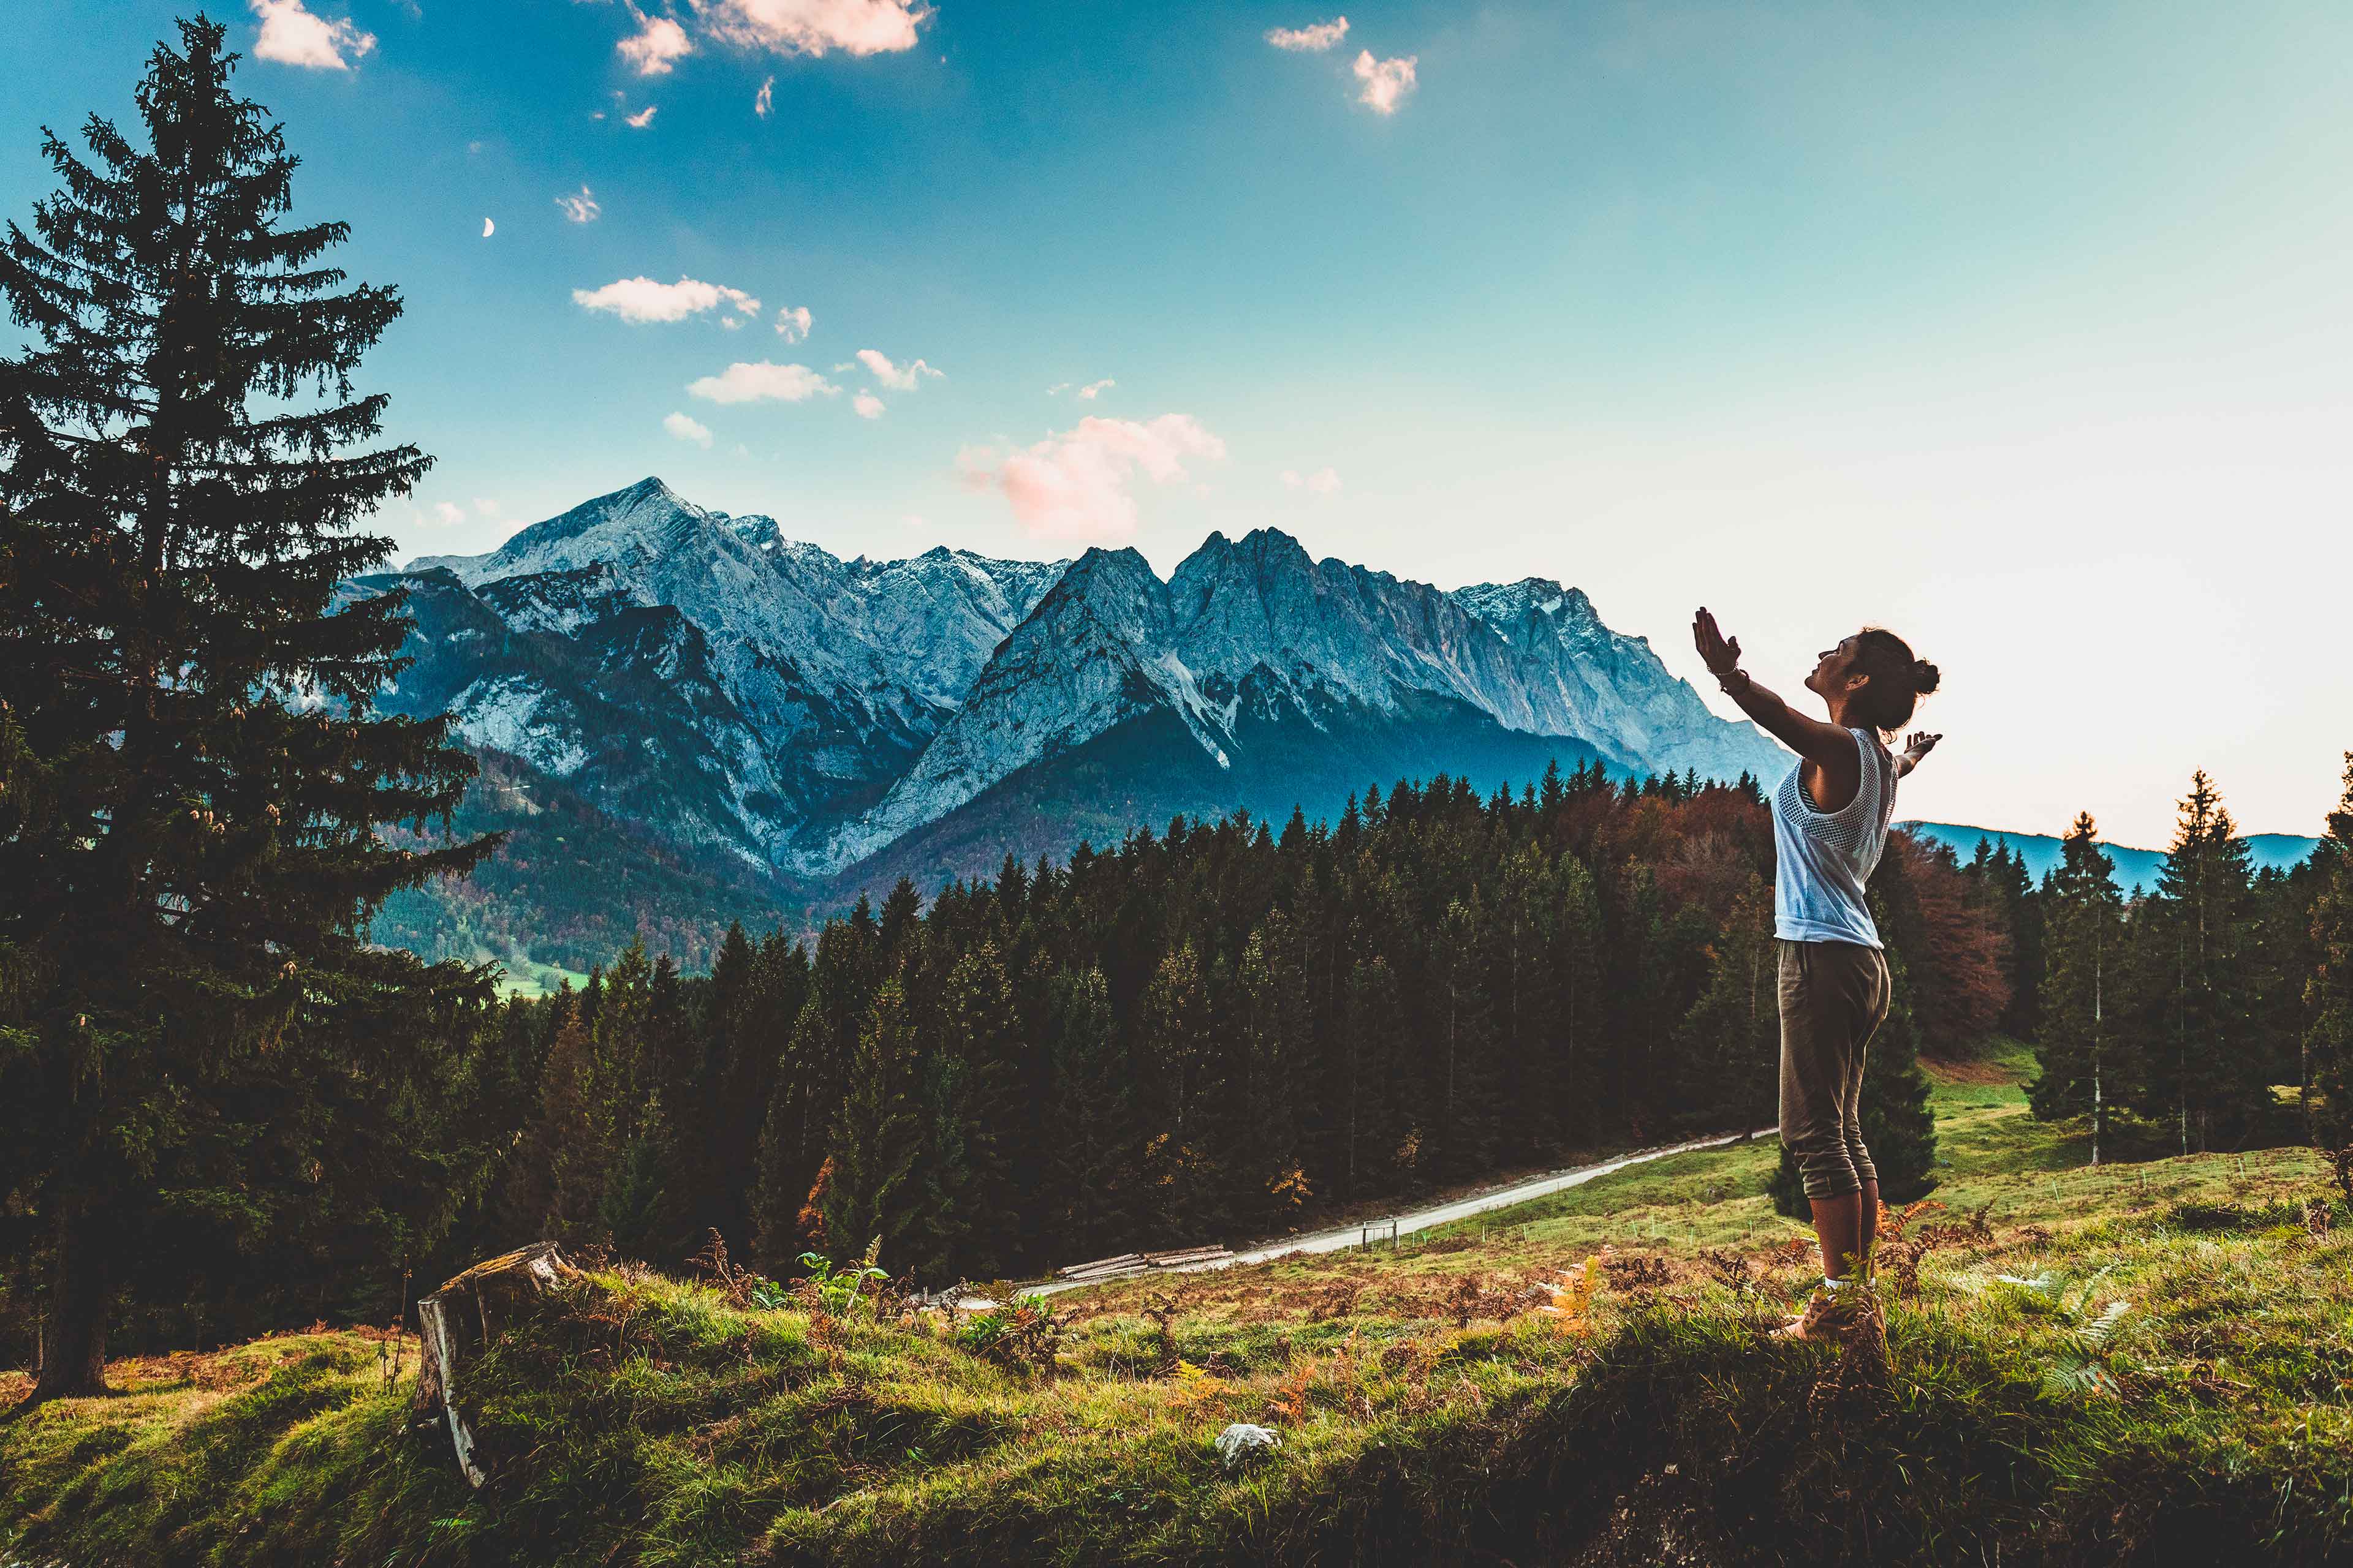
<path fill-rule="evenodd" d="M 1864 1147 L 1864 1051 L 1887 1020 L 1887 957 L 1861 943 L 1781 943 L 1781 1147 L 1805 1197 L 1878 1182 Z"/>

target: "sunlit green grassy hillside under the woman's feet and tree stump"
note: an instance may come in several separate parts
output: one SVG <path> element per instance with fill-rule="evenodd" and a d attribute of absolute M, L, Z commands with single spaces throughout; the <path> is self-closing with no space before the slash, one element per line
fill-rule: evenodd
<path fill-rule="evenodd" d="M 2089 1171 L 2075 1128 L 2026 1117 L 2019 1077 L 2005 1048 L 1937 1084 L 1948 1211 L 1915 1225 L 1991 1206 L 1993 1234 L 1929 1253 L 1918 1298 L 1892 1302 L 1887 1380 L 1760 1335 L 1812 1276 L 1786 1246 L 1802 1232 L 1758 1192 L 1765 1143 L 1398 1253 L 1073 1293 L 1052 1371 L 976 1359 L 936 1319 L 584 1276 L 473 1366 L 482 1493 L 442 1432 L 409 1429 L 407 1385 L 384 1387 L 355 1335 L 141 1363 L 139 1392 L 0 1427 L 0 1561 L 2353 1552 L 2353 1215 L 2337 1201 L 2332 1239 L 2306 1229 L 2320 1161 Z M 1537 1281 L 1595 1255 L 1588 1319 L 1527 1312 Z M 1278 1427 L 1280 1453 L 1228 1476 L 1212 1450 L 1228 1420 Z"/>

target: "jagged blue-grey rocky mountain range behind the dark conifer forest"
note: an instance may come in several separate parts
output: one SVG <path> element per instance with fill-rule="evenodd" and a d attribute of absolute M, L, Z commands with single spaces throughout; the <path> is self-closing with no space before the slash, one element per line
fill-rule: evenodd
<path fill-rule="evenodd" d="M 416 632 L 386 708 L 449 710 L 508 785 L 786 898 L 1174 811 L 1327 816 L 1400 776 L 1786 766 L 1577 588 L 1447 592 L 1273 529 L 1212 534 L 1167 581 L 1134 550 L 845 562 L 642 480 L 351 590 L 393 585 Z"/>

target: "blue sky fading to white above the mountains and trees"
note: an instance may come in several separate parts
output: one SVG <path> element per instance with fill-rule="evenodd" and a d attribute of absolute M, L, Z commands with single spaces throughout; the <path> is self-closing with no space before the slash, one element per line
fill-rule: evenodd
<path fill-rule="evenodd" d="M 176 9 L 12 14 L 7 216 L 35 127 L 127 118 Z M 1275 524 L 1579 583 L 1687 675 L 1706 602 L 1788 691 L 1889 623 L 1948 682 L 1908 813 L 2162 842 L 2207 766 L 2245 825 L 2318 827 L 2353 7 L 1339 14 L 214 5 L 304 212 L 405 292 L 367 364 L 440 458 L 402 555 L 647 473 L 845 555 L 1167 569 Z M 760 388 L 805 397 L 722 400 Z"/>

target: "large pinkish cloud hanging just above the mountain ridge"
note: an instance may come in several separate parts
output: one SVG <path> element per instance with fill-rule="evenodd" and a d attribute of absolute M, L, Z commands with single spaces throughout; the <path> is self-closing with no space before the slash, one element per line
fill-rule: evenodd
<path fill-rule="evenodd" d="M 974 489 L 1002 489 L 1014 517 L 1038 538 L 1120 538 L 1136 527 L 1129 484 L 1186 477 L 1186 458 L 1224 458 L 1226 442 L 1191 414 L 1148 423 L 1087 416 L 1035 447 L 967 447 L 955 463 Z"/>

